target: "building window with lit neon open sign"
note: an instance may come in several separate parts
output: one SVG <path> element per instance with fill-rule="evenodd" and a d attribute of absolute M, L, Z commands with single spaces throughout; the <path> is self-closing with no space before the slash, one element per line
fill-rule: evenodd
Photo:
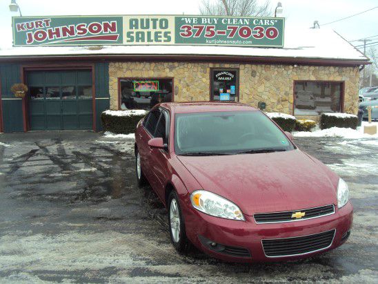
<path fill-rule="evenodd" d="M 119 79 L 121 109 L 149 109 L 159 102 L 171 102 L 173 80 L 170 78 Z"/>

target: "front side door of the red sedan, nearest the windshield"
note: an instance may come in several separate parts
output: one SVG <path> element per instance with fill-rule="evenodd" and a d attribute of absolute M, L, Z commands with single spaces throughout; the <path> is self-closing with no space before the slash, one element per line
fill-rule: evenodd
<path fill-rule="evenodd" d="M 157 128 L 155 130 L 154 136 L 155 138 L 163 138 L 164 144 L 169 142 L 169 123 L 170 117 L 168 111 L 164 110 L 163 108 L 160 109 L 161 115 L 159 118 L 159 122 L 157 123 Z M 166 181 L 169 178 L 169 170 L 168 170 L 168 159 L 170 154 L 168 153 L 167 149 L 152 149 L 152 156 L 151 156 L 151 169 L 155 175 L 155 191 L 159 195 L 159 197 L 164 200 L 164 189 L 166 186 Z"/>

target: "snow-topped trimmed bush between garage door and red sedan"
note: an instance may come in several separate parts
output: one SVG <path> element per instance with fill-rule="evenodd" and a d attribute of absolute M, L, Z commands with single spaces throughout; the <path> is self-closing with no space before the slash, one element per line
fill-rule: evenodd
<path fill-rule="evenodd" d="M 139 120 L 146 113 L 147 111 L 143 110 L 104 111 L 101 113 L 103 130 L 117 134 L 135 133 Z"/>

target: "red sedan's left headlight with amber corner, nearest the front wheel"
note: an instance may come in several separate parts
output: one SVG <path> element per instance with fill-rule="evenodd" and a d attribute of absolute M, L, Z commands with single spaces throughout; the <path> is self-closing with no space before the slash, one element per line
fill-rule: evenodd
<path fill-rule="evenodd" d="M 244 220 L 244 216 L 237 205 L 210 191 L 193 191 L 190 195 L 190 200 L 195 209 L 211 216 L 233 220 Z"/>

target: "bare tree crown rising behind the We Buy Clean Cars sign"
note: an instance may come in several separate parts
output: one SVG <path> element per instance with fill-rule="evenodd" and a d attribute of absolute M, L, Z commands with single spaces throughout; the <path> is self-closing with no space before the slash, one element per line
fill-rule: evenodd
<path fill-rule="evenodd" d="M 199 6 L 201 15 L 212 16 L 271 16 L 270 1 L 261 5 L 257 0 L 203 0 Z"/>

